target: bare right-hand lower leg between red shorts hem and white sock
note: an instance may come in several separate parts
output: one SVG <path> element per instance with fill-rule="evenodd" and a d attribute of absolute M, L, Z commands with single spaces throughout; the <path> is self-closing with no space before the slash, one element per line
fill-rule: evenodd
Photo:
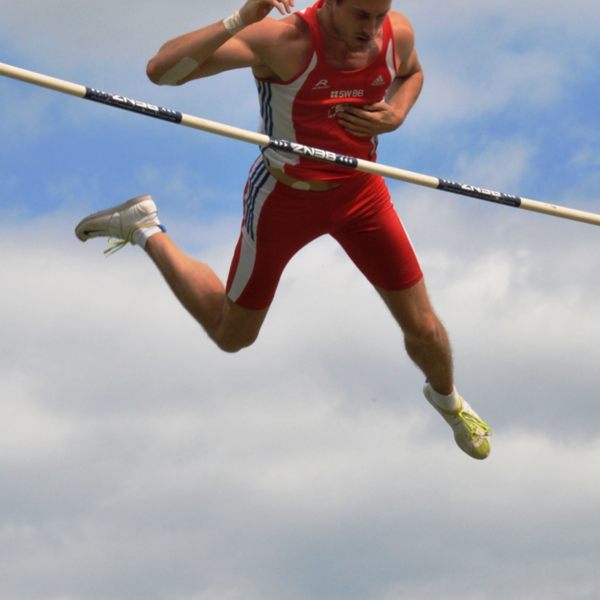
<path fill-rule="evenodd" d="M 452 350 L 446 329 L 435 314 L 423 279 L 400 291 L 376 287 L 404 333 L 410 358 L 440 394 L 454 390 Z"/>

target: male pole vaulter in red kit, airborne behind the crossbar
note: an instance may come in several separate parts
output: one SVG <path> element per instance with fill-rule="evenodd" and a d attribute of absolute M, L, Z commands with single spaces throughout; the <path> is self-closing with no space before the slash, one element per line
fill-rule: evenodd
<path fill-rule="evenodd" d="M 414 35 L 392 0 L 247 0 L 231 17 L 167 42 L 148 63 L 159 85 L 182 85 L 249 67 L 262 131 L 269 136 L 376 159 L 377 136 L 398 129 L 423 85 Z M 284 18 L 267 15 L 276 8 Z M 257 338 L 281 273 L 303 246 L 333 236 L 375 286 L 427 377 L 424 394 L 476 459 L 490 428 L 454 387 L 446 331 L 381 177 L 274 149 L 252 166 L 227 285 L 166 235 L 150 196 L 85 218 L 79 239 L 118 238 L 144 248 L 183 306 L 226 352 Z"/>

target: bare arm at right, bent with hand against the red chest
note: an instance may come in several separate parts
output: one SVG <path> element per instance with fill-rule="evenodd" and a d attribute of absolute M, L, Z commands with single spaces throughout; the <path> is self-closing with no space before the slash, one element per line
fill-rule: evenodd
<path fill-rule="evenodd" d="M 410 109 L 417 101 L 423 87 L 423 71 L 415 50 L 413 29 L 406 19 L 390 12 L 398 73 L 385 102 L 369 104 L 362 108 L 348 106 L 338 113 L 340 125 L 353 135 L 373 137 L 398 129 L 404 123 Z"/>

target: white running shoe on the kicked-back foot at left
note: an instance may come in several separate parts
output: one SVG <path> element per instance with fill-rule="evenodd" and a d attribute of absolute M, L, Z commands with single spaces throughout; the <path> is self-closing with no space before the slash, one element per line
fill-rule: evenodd
<path fill-rule="evenodd" d="M 138 196 L 85 217 L 75 228 L 75 235 L 82 242 L 93 237 L 109 238 L 112 247 L 104 253 L 112 254 L 127 243 L 135 245 L 133 234 L 142 227 L 159 227 L 166 231 L 158 220 L 158 209 L 150 196 Z"/>

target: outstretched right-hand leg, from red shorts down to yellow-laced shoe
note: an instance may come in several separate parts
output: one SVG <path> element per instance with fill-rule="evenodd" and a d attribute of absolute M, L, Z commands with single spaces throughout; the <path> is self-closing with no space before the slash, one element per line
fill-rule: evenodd
<path fill-rule="evenodd" d="M 402 328 L 409 356 L 429 380 L 423 389 L 428 402 L 452 427 L 461 450 L 484 459 L 490 453 L 491 429 L 454 387 L 448 335 L 429 301 L 412 244 L 383 182 L 371 179 L 369 183 L 363 189 L 355 186 L 354 203 L 346 210 L 350 218 L 334 237 Z"/>

